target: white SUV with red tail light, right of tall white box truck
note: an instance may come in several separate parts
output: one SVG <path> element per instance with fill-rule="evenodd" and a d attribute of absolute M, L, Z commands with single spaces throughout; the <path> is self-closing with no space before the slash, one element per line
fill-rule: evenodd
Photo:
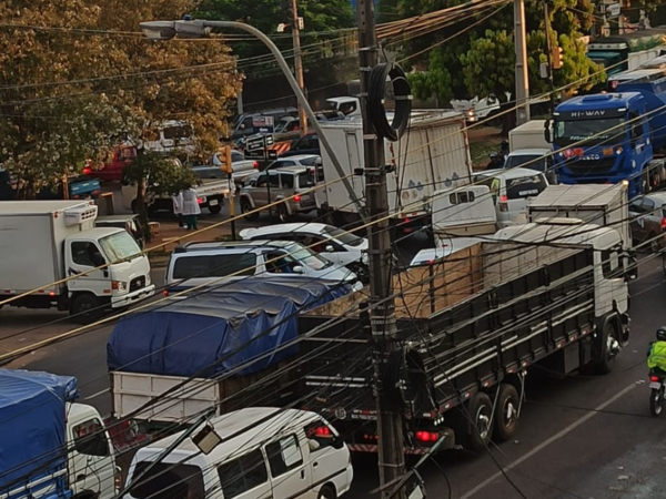
<path fill-rule="evenodd" d="M 543 173 L 529 169 L 482 172 L 474 175 L 473 181 L 491 190 L 500 228 L 526 223 L 529 198 L 548 186 Z"/>

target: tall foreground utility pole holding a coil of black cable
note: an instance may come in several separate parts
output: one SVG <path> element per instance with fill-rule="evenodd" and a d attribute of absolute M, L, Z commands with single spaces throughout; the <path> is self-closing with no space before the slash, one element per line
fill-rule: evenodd
<path fill-rule="evenodd" d="M 369 243 L 370 243 L 370 322 L 375 345 L 375 397 L 377 401 L 377 440 L 380 488 L 382 498 L 392 491 L 390 485 L 395 485 L 405 473 L 404 435 L 402 417 L 397 410 L 391 409 L 391 404 L 384 400 L 381 386 L 382 365 L 395 347 L 395 302 L 393 298 L 393 277 L 391 275 L 391 238 L 389 221 L 389 190 L 384 157 L 384 140 L 377 138 L 367 114 L 367 92 L 370 73 L 379 62 L 377 35 L 374 19 L 373 0 L 356 2 L 359 16 L 359 60 L 361 70 L 361 110 L 363 113 L 363 144 L 365 198 Z M 384 218 L 381 222 L 375 222 Z M 404 489 L 397 496 L 404 499 Z"/>

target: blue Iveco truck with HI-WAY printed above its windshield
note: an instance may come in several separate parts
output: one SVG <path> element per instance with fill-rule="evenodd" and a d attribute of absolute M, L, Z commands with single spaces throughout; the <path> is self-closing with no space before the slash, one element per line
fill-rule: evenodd
<path fill-rule="evenodd" d="M 564 101 L 553 113 L 555 169 L 564 184 L 628 183 L 629 198 L 666 181 L 666 58 L 610 78 L 608 93 Z"/>

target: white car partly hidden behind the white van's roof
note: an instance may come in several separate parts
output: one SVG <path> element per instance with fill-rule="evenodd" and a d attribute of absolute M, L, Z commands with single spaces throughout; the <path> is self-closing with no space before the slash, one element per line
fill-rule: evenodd
<path fill-rule="evenodd" d="M 321 254 L 334 264 L 344 265 L 360 278 L 367 275 L 367 240 L 319 223 L 291 223 L 244 228 L 245 241 L 294 241 Z"/>

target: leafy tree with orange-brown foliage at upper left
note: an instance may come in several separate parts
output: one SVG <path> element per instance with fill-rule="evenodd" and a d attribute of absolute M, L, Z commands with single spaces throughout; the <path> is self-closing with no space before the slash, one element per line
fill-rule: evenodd
<path fill-rule="evenodd" d="M 138 32 L 141 20 L 182 19 L 193 6 L 0 3 L 0 163 L 22 181 L 23 198 L 101 161 L 120 140 L 141 140 L 150 122 L 186 120 L 201 149 L 216 149 L 241 84 L 229 48 Z"/>

